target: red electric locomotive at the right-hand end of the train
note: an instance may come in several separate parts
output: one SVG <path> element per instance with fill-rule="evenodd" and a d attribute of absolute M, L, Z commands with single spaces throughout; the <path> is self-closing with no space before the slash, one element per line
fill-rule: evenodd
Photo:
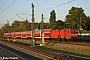
<path fill-rule="evenodd" d="M 60 30 L 59 34 L 60 34 L 61 39 L 64 39 L 67 41 L 76 40 L 78 37 L 78 32 L 77 30 L 74 30 L 74 29 L 62 29 Z"/>

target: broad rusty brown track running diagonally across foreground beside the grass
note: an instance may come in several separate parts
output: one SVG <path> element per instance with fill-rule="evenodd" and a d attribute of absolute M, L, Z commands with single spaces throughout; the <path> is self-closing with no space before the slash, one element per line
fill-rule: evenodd
<path fill-rule="evenodd" d="M 3 45 L 7 45 L 9 47 L 12 47 L 13 49 L 17 49 L 19 51 L 22 51 L 24 53 L 34 55 L 36 57 L 40 57 L 41 59 L 45 60 L 84 60 L 88 58 L 81 58 L 79 56 L 73 56 L 73 55 L 68 55 L 68 54 L 63 54 L 63 53 L 57 53 L 57 52 L 51 52 L 47 50 L 41 50 L 39 48 L 35 47 L 30 47 L 24 44 L 19 44 L 19 43 L 14 43 L 14 42 L 8 42 L 8 41 L 0 41 Z"/>

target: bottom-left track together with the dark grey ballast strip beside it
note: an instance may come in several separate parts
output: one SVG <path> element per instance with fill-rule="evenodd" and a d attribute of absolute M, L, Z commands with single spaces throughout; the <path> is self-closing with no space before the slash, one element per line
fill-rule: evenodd
<path fill-rule="evenodd" d="M 0 44 L 0 53 L 0 57 L 2 60 L 41 60 L 24 52 L 10 48 L 8 47 L 8 45 L 5 46 Z"/>

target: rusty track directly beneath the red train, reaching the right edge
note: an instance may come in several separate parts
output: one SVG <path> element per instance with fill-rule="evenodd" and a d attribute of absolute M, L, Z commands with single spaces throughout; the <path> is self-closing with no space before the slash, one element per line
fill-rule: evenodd
<path fill-rule="evenodd" d="M 30 42 L 32 39 L 22 39 L 22 42 L 23 40 L 27 40 L 27 42 Z M 32 41 L 31 41 L 32 42 Z M 52 44 L 55 44 L 55 43 L 61 43 L 61 44 L 71 44 L 71 45 L 81 45 L 81 46 L 90 46 L 90 42 L 87 43 L 87 42 L 65 42 L 65 41 L 59 41 L 57 39 L 52 39 L 52 40 L 47 40 L 45 39 L 45 43 L 52 43 Z M 40 44 L 40 39 L 37 39 L 36 40 L 36 44 Z"/>

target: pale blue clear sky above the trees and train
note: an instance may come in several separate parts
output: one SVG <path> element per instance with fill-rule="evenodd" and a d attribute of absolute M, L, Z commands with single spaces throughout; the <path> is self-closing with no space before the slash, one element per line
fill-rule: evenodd
<path fill-rule="evenodd" d="M 84 13 L 90 16 L 90 0 L 0 0 L 0 27 L 6 24 L 7 20 L 10 24 L 15 20 L 24 21 L 26 18 L 31 22 L 32 3 L 34 4 L 35 22 L 41 21 L 42 14 L 45 18 L 44 22 L 49 22 L 52 10 L 55 10 L 56 20 L 64 21 L 73 6 L 82 7 Z"/>

